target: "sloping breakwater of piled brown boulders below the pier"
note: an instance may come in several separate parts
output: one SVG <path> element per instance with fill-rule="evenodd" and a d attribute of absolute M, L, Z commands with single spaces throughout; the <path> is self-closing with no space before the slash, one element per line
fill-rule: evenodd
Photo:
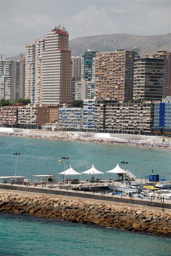
<path fill-rule="evenodd" d="M 0 191 L 0 212 L 171 236 L 170 210 L 117 202 Z"/>

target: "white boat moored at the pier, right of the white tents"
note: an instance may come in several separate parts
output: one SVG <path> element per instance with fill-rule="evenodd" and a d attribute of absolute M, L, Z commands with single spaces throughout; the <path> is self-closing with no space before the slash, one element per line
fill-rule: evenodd
<path fill-rule="evenodd" d="M 112 182 L 111 184 L 108 183 L 109 189 L 113 191 L 119 191 L 119 192 L 138 192 L 140 190 L 139 187 L 131 185 L 131 182 L 125 181 L 125 182 Z"/>

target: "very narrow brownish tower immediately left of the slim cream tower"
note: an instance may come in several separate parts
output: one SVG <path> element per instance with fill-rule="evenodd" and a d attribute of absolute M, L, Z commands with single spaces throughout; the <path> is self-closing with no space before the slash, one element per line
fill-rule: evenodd
<path fill-rule="evenodd" d="M 26 56 L 21 56 L 19 98 L 25 98 Z"/>

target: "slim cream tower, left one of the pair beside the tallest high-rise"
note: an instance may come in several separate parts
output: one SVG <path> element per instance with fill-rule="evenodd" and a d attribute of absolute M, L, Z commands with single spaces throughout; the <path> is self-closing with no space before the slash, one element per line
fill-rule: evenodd
<path fill-rule="evenodd" d="M 35 44 L 26 44 L 25 98 L 35 102 Z"/>

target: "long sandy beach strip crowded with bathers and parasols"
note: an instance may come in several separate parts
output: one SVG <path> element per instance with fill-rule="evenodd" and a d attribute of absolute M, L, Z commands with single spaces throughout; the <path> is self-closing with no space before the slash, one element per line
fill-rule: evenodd
<path fill-rule="evenodd" d="M 32 131 L 33 132 L 33 131 Z M 17 137 L 28 137 L 28 138 L 33 138 L 36 140 L 36 138 L 39 139 L 52 139 L 52 140 L 69 140 L 69 141 L 88 141 L 88 142 L 92 142 L 92 143 L 108 143 L 108 145 L 110 146 L 111 144 L 121 144 L 121 145 L 135 145 L 136 147 L 139 146 L 143 146 L 145 148 L 171 148 L 171 142 L 160 142 L 160 141 L 155 141 L 155 140 L 151 140 L 151 141 L 147 141 L 147 140 L 120 140 L 120 139 L 103 139 L 103 138 L 95 138 L 95 137 L 84 137 L 84 136 L 74 136 L 71 135 L 70 133 L 61 133 L 58 132 L 57 135 L 53 135 L 53 132 L 48 133 L 48 132 L 43 132 L 40 133 L 38 131 L 34 131 L 35 133 L 8 133 L 8 132 L 0 132 L 0 135 L 4 135 L 4 136 L 17 136 Z M 49 134 L 49 135 L 48 135 Z"/>

